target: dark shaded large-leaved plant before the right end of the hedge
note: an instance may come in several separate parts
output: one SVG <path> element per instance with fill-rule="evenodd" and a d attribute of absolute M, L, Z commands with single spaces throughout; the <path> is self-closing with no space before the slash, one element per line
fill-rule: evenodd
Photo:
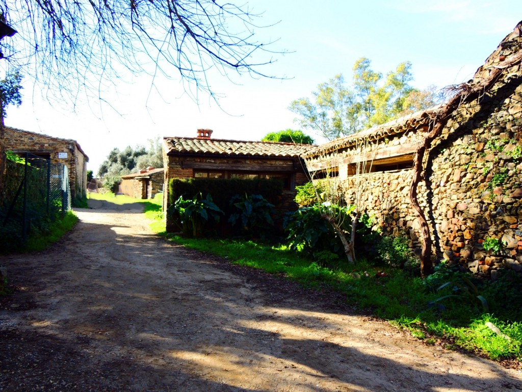
<path fill-rule="evenodd" d="M 241 224 L 241 229 L 247 233 L 263 233 L 269 226 L 274 225 L 272 214 L 275 213 L 274 204 L 269 203 L 262 195 L 253 194 L 241 197 L 236 194 L 230 205 L 236 212 L 229 217 L 232 225 Z M 238 211 L 239 210 L 239 211 Z"/>

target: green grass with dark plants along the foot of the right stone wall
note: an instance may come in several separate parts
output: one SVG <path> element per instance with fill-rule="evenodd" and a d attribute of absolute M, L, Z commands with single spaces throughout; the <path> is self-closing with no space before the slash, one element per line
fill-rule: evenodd
<path fill-rule="evenodd" d="M 335 268 L 328 268 L 284 246 L 180 236 L 171 239 L 235 264 L 284 275 L 305 287 L 342 293 L 348 303 L 408 329 L 412 336 L 427 344 L 443 338 L 452 342 L 454 348 L 493 360 L 522 360 L 522 309 L 505 306 L 506 298 L 513 304 L 522 301 L 522 277 L 511 271 L 503 271 L 495 282 L 477 279 L 470 280 L 469 285 L 465 279 L 470 275 L 447 268 L 421 280 L 411 272 L 375 266 L 365 260 L 356 266 L 341 262 Z M 488 312 L 477 293 L 487 300 Z M 493 332 L 486 322 L 499 328 L 503 336 Z"/>

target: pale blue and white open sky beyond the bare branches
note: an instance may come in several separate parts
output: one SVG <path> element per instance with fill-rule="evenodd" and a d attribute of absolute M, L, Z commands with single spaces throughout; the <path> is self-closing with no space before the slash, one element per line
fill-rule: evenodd
<path fill-rule="evenodd" d="M 113 147 L 147 145 L 156 136 L 195 136 L 214 130 L 217 139 L 259 140 L 268 132 L 296 128 L 287 108 L 311 96 L 319 83 L 338 73 L 351 80 L 355 60 L 371 59 L 386 74 L 402 61 L 412 63 L 413 85 L 444 87 L 470 79 L 500 41 L 522 20 L 522 1 L 341 1 L 253 0 L 263 12 L 259 40 L 279 39 L 277 62 L 264 68 L 286 79 L 252 79 L 232 75 L 232 83 L 211 74 L 222 94 L 219 107 L 201 96 L 197 105 L 181 82 L 150 76 L 127 76 L 104 93 L 106 103 L 80 98 L 73 111 L 67 102 L 41 99 L 29 78 L 20 108 L 8 109 L 6 125 L 75 139 L 98 169 Z M 23 70 L 22 70 L 23 73 Z M 312 136 L 311 132 L 309 132 Z M 318 139 L 316 137 L 316 139 Z"/>

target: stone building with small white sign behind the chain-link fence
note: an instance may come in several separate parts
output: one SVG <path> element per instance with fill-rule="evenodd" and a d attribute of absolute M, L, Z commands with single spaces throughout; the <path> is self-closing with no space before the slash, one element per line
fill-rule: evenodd
<path fill-rule="evenodd" d="M 75 140 L 60 139 L 5 126 L 4 143 L 6 151 L 18 154 L 30 153 L 50 159 L 53 164 L 60 163 L 67 166 L 72 198 L 86 195 L 89 157 Z"/>

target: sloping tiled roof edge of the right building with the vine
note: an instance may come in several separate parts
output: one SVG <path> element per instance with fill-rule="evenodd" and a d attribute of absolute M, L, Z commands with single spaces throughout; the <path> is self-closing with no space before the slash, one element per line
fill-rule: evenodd
<path fill-rule="evenodd" d="M 418 129 L 420 126 L 429 124 L 429 122 L 435 118 L 441 106 L 442 105 L 437 105 L 430 109 L 408 114 L 408 116 L 389 121 L 385 124 L 372 126 L 372 128 L 353 135 L 340 137 L 339 139 L 335 139 L 314 148 L 308 153 L 303 154 L 303 157 L 307 158 L 318 154 L 328 154 L 332 151 L 355 145 L 364 140 L 376 141 L 386 136 L 404 133 L 411 129 Z"/>

